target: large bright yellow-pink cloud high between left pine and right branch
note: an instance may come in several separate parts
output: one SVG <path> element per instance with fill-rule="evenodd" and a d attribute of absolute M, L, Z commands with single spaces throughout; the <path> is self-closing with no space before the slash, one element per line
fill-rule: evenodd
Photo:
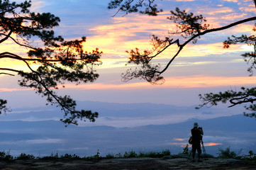
<path fill-rule="evenodd" d="M 94 35 L 89 36 L 86 46 L 89 49 L 99 47 L 106 55 L 119 56 L 127 55 L 126 50 L 135 47 L 151 49 L 150 35 L 167 33 L 169 28 L 175 26 L 174 23 L 167 21 L 167 15 L 169 12 L 161 13 L 157 17 L 131 14 L 126 17 L 111 18 L 110 23 L 89 29 Z"/>

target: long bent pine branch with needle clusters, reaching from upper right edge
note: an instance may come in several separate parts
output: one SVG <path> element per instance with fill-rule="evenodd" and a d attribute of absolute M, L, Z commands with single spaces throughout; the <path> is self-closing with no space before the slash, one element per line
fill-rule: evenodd
<path fill-rule="evenodd" d="M 179 55 L 183 48 L 187 44 L 189 44 L 189 42 L 193 42 L 195 44 L 202 35 L 205 35 L 207 33 L 226 30 L 233 26 L 238 26 L 241 23 L 256 20 L 255 16 L 252 18 L 246 18 L 241 21 L 237 21 L 235 23 L 230 23 L 229 25 L 220 28 L 209 29 L 209 24 L 204 23 L 206 22 L 206 18 L 201 15 L 194 16 L 194 13 L 180 11 L 179 8 L 176 8 L 176 12 L 171 11 L 171 13 L 173 14 L 173 16 L 169 17 L 168 19 L 177 23 L 177 30 L 169 33 L 169 37 L 165 37 L 165 40 L 160 40 L 160 38 L 158 38 L 157 36 L 152 35 L 152 51 L 145 50 L 143 52 L 140 52 L 138 48 L 136 48 L 135 50 L 130 50 L 130 52 L 128 52 L 128 54 L 130 55 L 128 64 L 140 64 L 141 67 L 140 69 L 137 68 L 135 70 L 129 69 L 126 74 L 122 74 L 123 81 L 140 78 L 145 79 L 152 84 L 158 84 L 157 81 L 160 81 L 161 84 L 164 80 L 163 77 L 161 77 L 160 75 L 169 68 L 170 64 L 172 64 L 174 59 Z M 181 35 L 184 39 L 173 40 L 173 35 Z M 184 42 L 181 43 L 181 41 Z M 169 62 L 167 62 L 163 69 L 160 69 L 159 64 L 152 64 L 151 61 L 153 58 L 158 57 L 162 52 L 167 50 L 167 48 L 172 45 L 177 46 L 177 52 L 174 52 L 174 55 L 170 57 Z"/>

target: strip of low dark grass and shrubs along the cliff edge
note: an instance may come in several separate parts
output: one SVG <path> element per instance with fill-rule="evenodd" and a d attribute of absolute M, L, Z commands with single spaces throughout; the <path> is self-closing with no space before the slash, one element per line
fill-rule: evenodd
<path fill-rule="evenodd" d="M 242 150 L 242 149 L 241 149 Z M 240 150 L 240 152 L 241 152 Z M 240 152 L 233 152 L 231 151 L 230 147 L 226 149 L 219 149 L 218 157 L 223 159 L 243 159 L 247 164 L 256 164 L 256 154 L 252 151 L 246 155 L 240 155 Z M 35 157 L 32 154 L 24 154 L 21 153 L 18 157 L 13 157 L 8 152 L 0 152 L 0 161 L 4 162 L 13 162 L 16 160 L 27 160 L 27 159 L 44 159 L 44 160 L 55 160 L 55 159 L 84 159 L 92 162 L 97 162 L 101 159 L 115 159 L 115 158 L 133 158 L 133 157 L 151 157 L 151 158 L 167 158 L 167 159 L 174 159 L 174 158 L 189 158 L 191 157 L 191 150 L 189 150 L 189 145 L 186 145 L 183 149 L 182 153 L 179 154 L 171 154 L 169 149 L 164 149 L 162 152 L 139 152 L 136 153 L 135 151 L 131 150 L 130 152 L 125 152 L 124 154 L 106 154 L 106 157 L 101 157 L 99 150 L 97 153 L 91 157 L 79 157 L 76 154 L 50 154 L 47 157 Z M 213 157 L 211 154 L 206 154 L 207 158 Z"/>

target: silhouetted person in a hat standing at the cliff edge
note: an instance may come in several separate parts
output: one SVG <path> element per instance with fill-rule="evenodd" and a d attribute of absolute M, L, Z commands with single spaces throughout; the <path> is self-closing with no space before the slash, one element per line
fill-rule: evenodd
<path fill-rule="evenodd" d="M 201 140 L 202 140 L 202 135 L 204 135 L 203 128 L 199 127 L 198 123 L 194 123 L 194 128 L 191 129 L 191 135 L 192 135 L 192 157 L 193 157 L 193 162 L 195 162 L 195 155 L 196 155 L 196 150 L 198 154 L 198 162 L 201 161 Z"/>

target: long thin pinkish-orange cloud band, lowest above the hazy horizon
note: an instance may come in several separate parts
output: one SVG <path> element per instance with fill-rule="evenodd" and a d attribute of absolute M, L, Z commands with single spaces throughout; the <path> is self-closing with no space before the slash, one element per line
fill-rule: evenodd
<path fill-rule="evenodd" d="M 245 86 L 256 84 L 252 77 L 211 77 L 204 75 L 194 75 L 188 77 L 166 77 L 165 84 L 161 86 L 152 86 L 148 82 L 123 83 L 123 84 L 66 84 L 67 89 L 84 89 L 84 90 L 132 90 L 132 89 L 173 89 L 173 88 L 200 88 L 200 87 L 217 87 L 217 86 Z M 61 89 L 62 87 L 60 87 Z"/>

